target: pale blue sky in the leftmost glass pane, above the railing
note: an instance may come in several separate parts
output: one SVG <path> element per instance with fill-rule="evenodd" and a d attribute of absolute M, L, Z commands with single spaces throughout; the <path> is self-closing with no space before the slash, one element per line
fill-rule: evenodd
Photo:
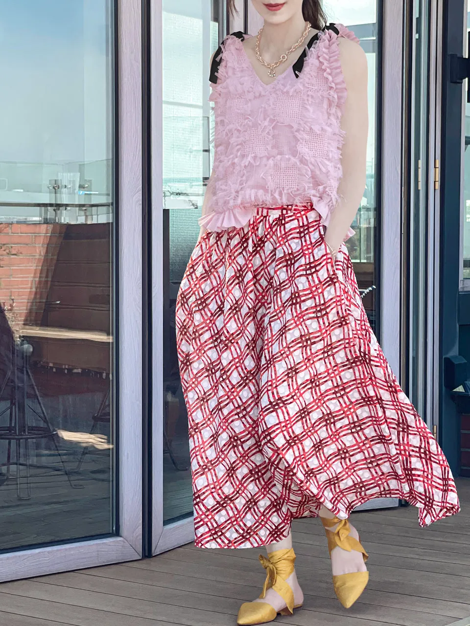
<path fill-rule="evenodd" d="M 1 0 L 0 162 L 107 157 L 109 4 Z"/>

